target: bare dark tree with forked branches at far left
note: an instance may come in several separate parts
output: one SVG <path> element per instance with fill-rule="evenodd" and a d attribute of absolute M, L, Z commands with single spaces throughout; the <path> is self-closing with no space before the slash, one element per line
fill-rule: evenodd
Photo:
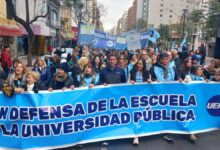
<path fill-rule="evenodd" d="M 30 10 L 29 10 L 29 0 L 25 0 L 24 6 L 25 6 L 25 9 L 26 9 L 26 19 L 24 20 L 16 14 L 15 6 L 14 6 L 12 1 L 13 0 L 6 0 L 7 9 L 10 10 L 9 12 L 11 14 L 11 17 L 15 21 L 20 23 L 26 29 L 26 31 L 28 32 L 29 41 L 28 41 L 28 63 L 27 63 L 27 65 L 32 66 L 32 51 L 33 51 L 33 43 L 34 43 L 34 40 L 35 40 L 35 35 L 34 35 L 34 32 L 31 28 L 31 24 L 36 22 L 39 18 L 45 18 L 47 16 L 47 13 L 37 15 L 33 19 L 31 19 L 30 18 Z M 41 13 L 43 13 L 43 12 L 41 12 Z"/>

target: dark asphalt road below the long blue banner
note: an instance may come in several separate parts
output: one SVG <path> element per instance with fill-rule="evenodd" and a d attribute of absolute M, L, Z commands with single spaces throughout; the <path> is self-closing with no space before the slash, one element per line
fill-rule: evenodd
<path fill-rule="evenodd" d="M 220 150 L 220 131 L 211 131 L 197 134 L 198 140 L 190 142 L 188 135 L 172 135 L 173 143 L 163 139 L 164 134 L 140 138 L 138 146 L 132 145 L 132 139 L 111 140 L 108 146 L 103 147 L 102 142 L 89 143 L 82 148 L 77 146 L 62 148 L 62 150 Z"/>

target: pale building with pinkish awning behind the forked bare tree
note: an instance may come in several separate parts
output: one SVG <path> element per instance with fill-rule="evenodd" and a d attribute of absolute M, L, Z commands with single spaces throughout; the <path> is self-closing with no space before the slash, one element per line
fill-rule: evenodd
<path fill-rule="evenodd" d="M 23 20 L 26 20 L 26 5 L 25 0 L 14 0 L 16 15 Z M 10 11 L 10 10 L 9 10 Z M 34 0 L 29 1 L 29 18 L 33 20 L 37 16 L 44 16 L 48 13 L 47 0 Z M 43 55 L 47 53 L 48 37 L 50 36 L 50 28 L 48 27 L 48 15 L 40 17 L 37 21 L 31 24 L 31 28 L 35 35 L 33 54 Z M 28 32 L 22 26 L 22 36 L 18 38 L 18 55 L 27 55 L 28 53 Z"/>

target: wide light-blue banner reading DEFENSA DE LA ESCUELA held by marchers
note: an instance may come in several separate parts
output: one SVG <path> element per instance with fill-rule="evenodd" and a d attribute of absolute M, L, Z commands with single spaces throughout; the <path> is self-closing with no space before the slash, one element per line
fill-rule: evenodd
<path fill-rule="evenodd" d="M 0 148 L 50 149 L 220 127 L 217 83 L 98 86 L 12 98 L 0 93 L 0 99 Z"/>

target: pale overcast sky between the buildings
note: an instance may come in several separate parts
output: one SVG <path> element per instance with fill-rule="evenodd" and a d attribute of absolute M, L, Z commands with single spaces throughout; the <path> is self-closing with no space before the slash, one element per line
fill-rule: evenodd
<path fill-rule="evenodd" d="M 117 25 L 117 21 L 122 17 L 123 12 L 132 6 L 133 0 L 98 0 L 103 4 L 106 12 L 101 15 L 101 21 L 105 31 L 111 30 Z"/>

